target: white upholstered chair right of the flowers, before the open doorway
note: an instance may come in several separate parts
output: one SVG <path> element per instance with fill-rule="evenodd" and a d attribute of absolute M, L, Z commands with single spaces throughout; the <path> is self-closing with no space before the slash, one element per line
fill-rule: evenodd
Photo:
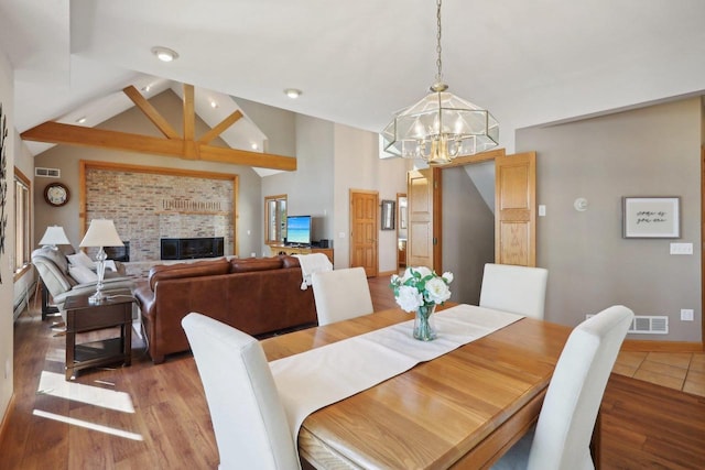
<path fill-rule="evenodd" d="M 543 319 L 547 278 L 543 267 L 487 263 L 479 306 Z"/>

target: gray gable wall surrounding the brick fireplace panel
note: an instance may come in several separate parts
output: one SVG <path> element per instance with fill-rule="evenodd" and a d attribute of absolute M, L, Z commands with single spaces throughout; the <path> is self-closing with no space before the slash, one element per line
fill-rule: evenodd
<path fill-rule="evenodd" d="M 173 91 L 166 90 L 155 96 L 150 100 L 150 103 L 159 110 L 174 129 L 181 131 L 183 128 L 183 105 L 182 100 Z M 156 127 L 152 124 L 137 107 L 130 108 L 128 111 L 101 123 L 98 128 L 161 136 Z M 208 129 L 200 119 L 196 119 L 196 136 L 202 135 Z M 214 144 L 225 146 L 220 140 L 214 141 Z M 213 162 L 193 162 L 178 157 L 69 145 L 56 145 L 42 152 L 34 159 L 36 166 L 61 168 L 61 181 L 66 183 L 72 190 L 72 198 L 66 206 L 50 207 L 44 201 L 43 190 L 47 183 L 55 179 L 35 178 L 35 242 L 42 237 L 47 226 L 61 225 L 66 230 L 66 236 L 74 247 L 78 247 L 82 236 L 82 228 L 78 227 L 79 160 L 119 162 L 132 165 L 198 170 L 239 175 L 238 233 L 236 234 L 239 255 L 249 256 L 251 252 L 260 251 L 261 240 L 264 237 L 262 234 L 260 177 L 251 167 Z"/>

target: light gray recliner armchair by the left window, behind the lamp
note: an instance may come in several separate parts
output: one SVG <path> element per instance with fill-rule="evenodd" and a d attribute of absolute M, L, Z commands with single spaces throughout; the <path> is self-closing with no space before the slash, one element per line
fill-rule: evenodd
<path fill-rule="evenodd" d="M 42 283 L 52 296 L 56 308 L 64 321 L 66 313 L 63 309 L 66 297 L 96 292 L 96 281 L 79 283 L 68 272 L 68 260 L 61 250 L 48 247 L 36 249 L 32 252 L 32 264 L 42 278 Z M 106 273 L 104 281 L 106 291 L 134 289 L 134 281 L 118 273 Z"/>

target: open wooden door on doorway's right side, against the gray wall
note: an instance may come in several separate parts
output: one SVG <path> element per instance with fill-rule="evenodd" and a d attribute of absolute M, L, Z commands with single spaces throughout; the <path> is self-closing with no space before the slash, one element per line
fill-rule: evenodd
<path fill-rule="evenodd" d="M 536 265 L 536 153 L 495 159 L 495 262 Z"/>

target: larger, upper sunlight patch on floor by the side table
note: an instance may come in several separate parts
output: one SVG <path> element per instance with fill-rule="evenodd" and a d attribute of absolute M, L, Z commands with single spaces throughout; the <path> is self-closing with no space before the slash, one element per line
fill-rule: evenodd
<path fill-rule="evenodd" d="M 64 374 L 55 372 L 42 371 L 36 393 L 87 403 L 122 413 L 134 413 L 134 405 L 129 394 L 99 386 L 68 382 Z"/>

